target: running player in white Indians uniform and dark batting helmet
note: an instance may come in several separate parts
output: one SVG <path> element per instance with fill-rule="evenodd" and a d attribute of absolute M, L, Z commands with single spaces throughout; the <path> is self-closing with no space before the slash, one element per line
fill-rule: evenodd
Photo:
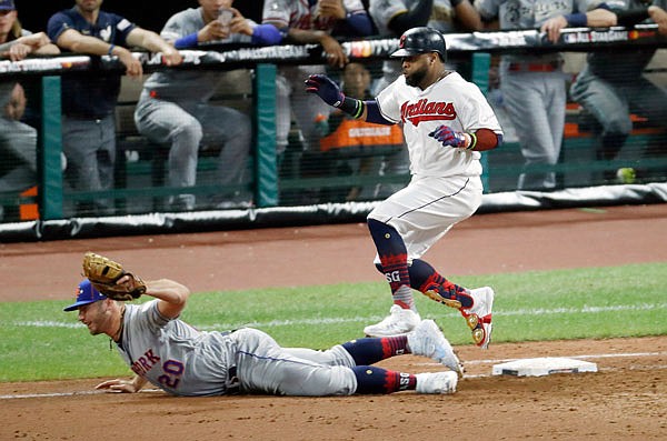
<path fill-rule="evenodd" d="M 475 343 L 491 338 L 494 290 L 469 290 L 445 279 L 421 259 L 457 222 L 481 203 L 479 151 L 491 150 L 502 131 L 479 88 L 445 68 L 445 37 L 432 28 L 414 28 L 391 57 L 402 60 L 404 74 L 375 100 L 346 97 L 326 76 L 311 76 L 307 91 L 369 122 L 402 123 L 410 156 L 410 183 L 368 216 L 376 244 L 376 265 L 391 288 L 394 305 L 367 335 L 396 335 L 420 322 L 411 289 L 457 308 L 472 330 Z"/>

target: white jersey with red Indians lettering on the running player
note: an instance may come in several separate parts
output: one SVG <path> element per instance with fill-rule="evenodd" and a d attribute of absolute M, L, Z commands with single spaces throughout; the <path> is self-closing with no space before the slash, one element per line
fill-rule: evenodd
<path fill-rule="evenodd" d="M 404 124 L 410 172 L 416 176 L 481 174 L 479 152 L 446 147 L 428 136 L 441 124 L 458 132 L 489 129 L 502 134 L 479 88 L 457 72 L 426 90 L 407 86 L 400 76 L 379 93 L 377 102 L 387 120 Z"/>

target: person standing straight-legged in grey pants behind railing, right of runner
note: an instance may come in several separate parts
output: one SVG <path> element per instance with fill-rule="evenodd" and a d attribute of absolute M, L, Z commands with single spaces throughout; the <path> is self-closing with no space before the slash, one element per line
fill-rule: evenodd
<path fill-rule="evenodd" d="M 614 14 L 607 10 L 587 12 L 584 0 L 536 0 L 530 2 L 531 7 L 505 0 L 477 0 L 475 6 L 482 20 L 499 19 L 500 29 L 539 28 L 554 43 L 563 28 L 608 27 L 614 21 Z M 565 79 L 563 59 L 557 52 L 501 58 L 500 90 L 527 167 L 558 162 L 565 128 Z M 517 187 L 519 190 L 554 190 L 556 174 L 527 170 L 520 174 Z"/>

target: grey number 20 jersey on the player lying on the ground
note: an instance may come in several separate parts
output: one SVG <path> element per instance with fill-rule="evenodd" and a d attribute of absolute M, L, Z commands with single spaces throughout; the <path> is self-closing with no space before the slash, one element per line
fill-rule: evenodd
<path fill-rule="evenodd" d="M 158 300 L 127 304 L 118 351 L 136 374 L 176 395 L 220 395 L 233 365 L 233 344 L 223 332 L 198 331 L 169 320 Z"/>

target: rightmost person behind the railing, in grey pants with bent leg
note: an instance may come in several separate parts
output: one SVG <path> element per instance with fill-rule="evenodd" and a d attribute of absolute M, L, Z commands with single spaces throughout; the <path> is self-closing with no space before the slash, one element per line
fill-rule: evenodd
<path fill-rule="evenodd" d="M 591 6 L 601 3 L 590 1 Z M 633 27 L 640 22 L 658 23 L 658 31 L 667 34 L 667 1 L 606 1 L 616 13 L 618 24 Z M 597 159 L 617 159 L 625 144 L 633 121 L 630 112 L 653 123 L 667 126 L 667 93 L 644 77 L 644 70 L 654 58 L 656 49 L 637 49 L 619 53 L 590 52 L 587 66 L 570 88 L 571 97 L 601 126 Z M 665 151 L 665 147 L 659 147 Z M 616 180 L 616 170 L 603 173 L 605 181 Z"/>

